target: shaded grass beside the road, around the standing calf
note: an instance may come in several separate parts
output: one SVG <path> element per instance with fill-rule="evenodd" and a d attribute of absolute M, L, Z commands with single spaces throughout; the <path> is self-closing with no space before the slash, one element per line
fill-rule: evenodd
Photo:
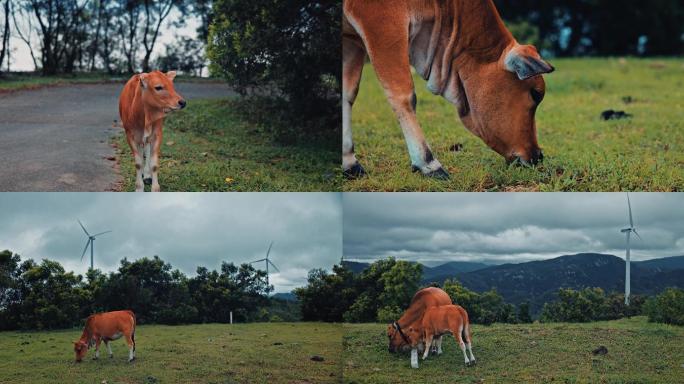
<path fill-rule="evenodd" d="M 245 121 L 236 99 L 193 101 L 164 123 L 162 191 L 339 191 L 339 145 L 283 145 Z M 123 135 L 116 139 L 125 191 L 135 168 Z M 149 189 L 149 187 L 148 187 Z"/>

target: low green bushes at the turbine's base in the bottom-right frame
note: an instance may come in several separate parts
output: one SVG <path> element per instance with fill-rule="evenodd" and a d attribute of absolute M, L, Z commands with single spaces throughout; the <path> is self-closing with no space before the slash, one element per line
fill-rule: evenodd
<path fill-rule="evenodd" d="M 557 300 L 544 304 L 541 321 L 583 323 L 620 319 L 640 314 L 644 303 L 643 296 L 635 295 L 626 306 L 623 294 L 606 295 L 601 288 L 560 289 L 557 296 Z"/>

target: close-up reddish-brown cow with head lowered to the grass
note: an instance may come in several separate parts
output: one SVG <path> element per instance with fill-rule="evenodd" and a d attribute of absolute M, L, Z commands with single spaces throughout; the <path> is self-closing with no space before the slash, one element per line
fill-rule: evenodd
<path fill-rule="evenodd" d="M 554 68 L 533 46 L 520 45 L 492 0 L 345 0 L 343 19 L 342 166 L 364 175 L 354 153 L 351 110 L 366 55 L 399 120 L 411 166 L 449 174 L 430 151 L 416 117 L 410 67 L 428 89 L 455 104 L 465 127 L 508 162 L 536 164 L 535 112 Z"/>

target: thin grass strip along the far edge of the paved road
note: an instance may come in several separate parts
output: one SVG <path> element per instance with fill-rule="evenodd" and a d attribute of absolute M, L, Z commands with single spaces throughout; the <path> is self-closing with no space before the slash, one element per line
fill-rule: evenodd
<path fill-rule="evenodd" d="M 12 72 L 0 76 L 0 93 L 12 92 L 21 89 L 36 89 L 65 84 L 87 84 L 114 82 L 123 83 L 129 78 L 128 75 L 109 75 L 104 72 L 83 72 L 72 75 L 62 74 L 55 76 L 41 76 L 33 72 Z M 216 82 L 215 78 L 200 78 L 192 76 L 178 76 L 175 82 Z"/>

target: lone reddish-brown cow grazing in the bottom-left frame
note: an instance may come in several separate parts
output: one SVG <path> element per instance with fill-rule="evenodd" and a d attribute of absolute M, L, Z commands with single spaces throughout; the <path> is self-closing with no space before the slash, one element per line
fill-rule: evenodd
<path fill-rule="evenodd" d="M 93 344 L 95 344 L 95 357 L 100 357 L 100 342 L 104 341 L 107 346 L 109 357 L 114 357 L 109 342 L 126 338 L 128 344 L 128 361 L 135 359 L 135 314 L 133 311 L 113 311 L 90 315 L 86 320 L 81 338 L 74 343 L 76 362 L 81 362 Z"/>

